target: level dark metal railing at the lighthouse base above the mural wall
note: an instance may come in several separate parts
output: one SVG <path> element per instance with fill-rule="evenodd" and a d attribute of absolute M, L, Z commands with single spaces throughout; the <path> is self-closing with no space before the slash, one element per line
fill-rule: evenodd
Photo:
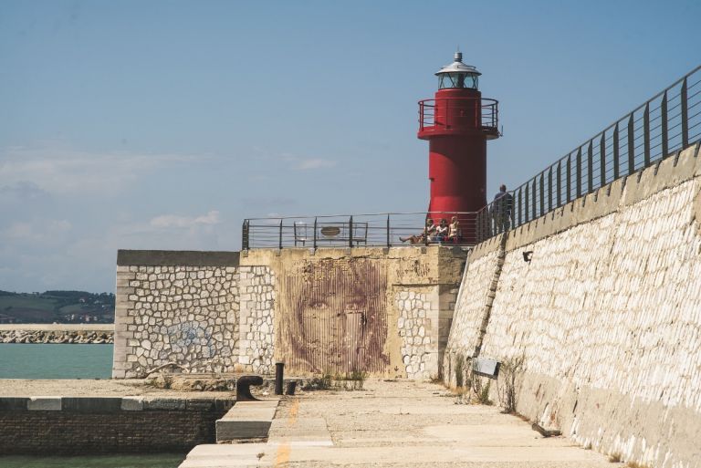
<path fill-rule="evenodd" d="M 449 227 L 457 220 L 452 236 L 436 235 L 427 224 Z M 371 213 L 326 216 L 249 218 L 242 228 L 242 249 L 288 247 L 358 247 L 410 244 L 473 245 L 484 238 L 478 232 L 476 213 Z M 448 233 L 450 234 L 450 233 Z"/>

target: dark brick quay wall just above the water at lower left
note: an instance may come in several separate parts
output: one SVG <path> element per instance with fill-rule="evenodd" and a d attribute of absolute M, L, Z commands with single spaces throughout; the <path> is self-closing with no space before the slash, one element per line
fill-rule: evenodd
<path fill-rule="evenodd" d="M 0 453 L 187 452 L 214 443 L 234 400 L 0 398 Z"/>

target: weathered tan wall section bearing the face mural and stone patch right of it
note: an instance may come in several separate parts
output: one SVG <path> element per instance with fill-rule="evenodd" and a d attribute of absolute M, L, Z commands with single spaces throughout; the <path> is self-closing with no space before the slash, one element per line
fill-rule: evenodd
<path fill-rule="evenodd" d="M 358 247 L 256 249 L 240 262 L 276 278 L 275 359 L 290 371 L 427 379 L 439 373 L 465 258 L 459 248 Z"/>

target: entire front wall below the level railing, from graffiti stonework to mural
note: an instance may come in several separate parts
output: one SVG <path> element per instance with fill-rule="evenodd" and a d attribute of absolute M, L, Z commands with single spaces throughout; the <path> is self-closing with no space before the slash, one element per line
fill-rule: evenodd
<path fill-rule="evenodd" d="M 466 252 L 452 247 L 120 251 L 113 377 L 155 369 L 428 379 Z"/>

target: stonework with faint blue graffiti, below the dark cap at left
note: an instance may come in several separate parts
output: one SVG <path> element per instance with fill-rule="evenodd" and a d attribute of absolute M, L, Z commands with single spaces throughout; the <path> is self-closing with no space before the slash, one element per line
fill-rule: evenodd
<path fill-rule="evenodd" d="M 233 371 L 238 341 L 235 267 L 118 266 L 113 377 L 174 363 Z"/>

